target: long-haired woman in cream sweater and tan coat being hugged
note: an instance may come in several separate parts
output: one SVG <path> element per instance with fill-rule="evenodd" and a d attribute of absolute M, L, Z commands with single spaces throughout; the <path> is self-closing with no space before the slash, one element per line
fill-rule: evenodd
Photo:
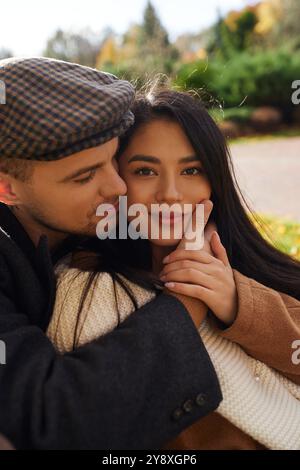
<path fill-rule="evenodd" d="M 135 125 L 119 155 L 128 205 L 195 208 L 210 199 L 218 231 L 212 251 L 176 249 L 174 231 L 168 239 L 151 238 L 152 220 L 148 239 L 95 240 L 90 255 L 79 253 L 60 267 L 49 337 L 61 352 L 80 346 L 117 327 L 163 285 L 198 298 L 208 308 L 199 331 L 224 400 L 166 448 L 300 448 L 300 368 L 291 360 L 300 339 L 300 263 L 250 221 L 225 140 L 198 100 L 157 91 L 138 98 L 133 112 Z M 177 221 L 167 220 L 173 227 Z M 160 227 L 165 222 L 160 218 Z"/>

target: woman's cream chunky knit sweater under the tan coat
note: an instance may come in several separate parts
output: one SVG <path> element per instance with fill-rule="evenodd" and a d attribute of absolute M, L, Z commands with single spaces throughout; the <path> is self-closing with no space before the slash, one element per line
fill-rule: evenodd
<path fill-rule="evenodd" d="M 117 327 L 117 303 L 121 321 L 133 311 L 131 300 L 102 273 L 94 295 L 88 297 L 77 323 L 77 312 L 88 273 L 60 265 L 53 317 L 47 334 L 60 353 L 90 342 Z M 154 292 L 124 279 L 139 306 Z M 218 375 L 223 401 L 217 412 L 269 449 L 300 449 L 300 386 L 266 364 L 248 356 L 237 344 L 219 336 L 205 320 L 199 333 Z"/>

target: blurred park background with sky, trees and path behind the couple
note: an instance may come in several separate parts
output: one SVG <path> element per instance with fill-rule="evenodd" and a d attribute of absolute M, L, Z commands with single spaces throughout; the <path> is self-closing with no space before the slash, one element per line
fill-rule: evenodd
<path fill-rule="evenodd" d="M 195 90 L 229 140 L 266 236 L 300 259 L 299 0 L 10 0 L 0 8 L 0 58 L 47 56 L 137 88 L 159 77 Z"/>

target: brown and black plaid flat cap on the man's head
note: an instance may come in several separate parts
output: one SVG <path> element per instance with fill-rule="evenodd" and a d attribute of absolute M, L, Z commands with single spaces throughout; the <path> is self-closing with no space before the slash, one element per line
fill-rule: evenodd
<path fill-rule="evenodd" d="M 0 158 L 58 160 L 122 135 L 134 121 L 133 86 L 82 65 L 4 59 L 0 84 Z"/>

